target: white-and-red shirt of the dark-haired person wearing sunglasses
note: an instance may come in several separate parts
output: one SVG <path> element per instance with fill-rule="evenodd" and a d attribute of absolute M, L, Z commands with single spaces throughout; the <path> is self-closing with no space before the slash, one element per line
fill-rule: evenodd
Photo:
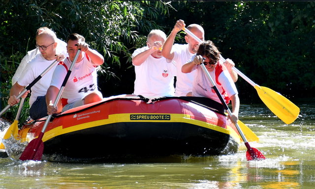
<path fill-rule="evenodd" d="M 193 57 L 191 57 L 191 61 L 193 60 Z M 224 65 L 223 65 L 224 66 Z M 216 69 L 218 66 L 216 67 Z M 196 70 L 196 75 L 194 77 L 193 83 L 192 83 L 192 96 L 196 97 L 207 97 L 212 100 L 215 100 L 219 103 L 221 103 L 216 91 L 212 89 L 212 84 L 208 80 L 207 76 L 203 73 L 203 70 L 201 66 L 194 66 L 193 70 Z M 215 70 L 209 72 L 212 80 L 216 83 L 217 88 L 219 89 L 219 92 L 222 94 L 223 89 L 225 90 L 228 97 L 231 97 L 234 94 L 238 94 L 238 91 L 236 89 L 235 83 L 232 80 L 230 74 L 227 70 L 224 70 L 221 72 L 221 74 L 218 77 L 218 81 L 221 83 L 217 83 L 216 76 L 215 76 Z M 223 97 L 224 98 L 224 97 Z"/>

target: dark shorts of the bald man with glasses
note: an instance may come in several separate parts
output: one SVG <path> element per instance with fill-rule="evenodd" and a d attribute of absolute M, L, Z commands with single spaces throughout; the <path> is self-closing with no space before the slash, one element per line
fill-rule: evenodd
<path fill-rule="evenodd" d="M 47 116 L 46 96 L 37 97 L 30 108 L 30 116 L 33 120 Z"/>

